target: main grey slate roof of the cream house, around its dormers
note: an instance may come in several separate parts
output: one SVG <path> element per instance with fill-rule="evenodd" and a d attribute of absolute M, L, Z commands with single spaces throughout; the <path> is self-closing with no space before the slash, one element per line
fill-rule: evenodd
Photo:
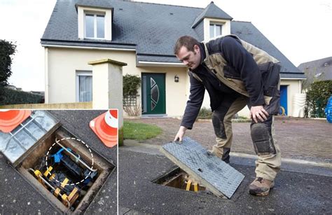
<path fill-rule="evenodd" d="M 78 39 L 78 5 L 113 8 L 112 41 Z M 41 44 L 135 49 L 137 60 L 179 62 L 173 54 L 177 39 L 183 35 L 191 35 L 201 41 L 202 22 L 195 28 L 191 26 L 201 15 L 212 16 L 219 10 L 214 4 L 209 4 L 207 8 L 192 8 L 129 1 L 57 0 L 41 38 Z M 219 16 L 226 18 L 223 13 Z M 304 78 L 303 74 L 250 22 L 232 21 L 231 33 L 280 60 L 282 71 L 287 73 L 282 74 L 282 77 Z"/>

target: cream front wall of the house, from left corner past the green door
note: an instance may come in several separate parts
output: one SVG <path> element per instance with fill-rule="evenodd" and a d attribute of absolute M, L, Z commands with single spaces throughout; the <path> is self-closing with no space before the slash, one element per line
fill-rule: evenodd
<path fill-rule="evenodd" d="M 92 71 L 88 62 L 109 58 L 127 63 L 123 75 L 141 73 L 164 73 L 166 86 L 167 116 L 181 116 L 184 113 L 189 92 L 189 82 L 184 67 L 136 67 L 134 51 L 121 50 L 88 50 L 74 48 L 48 48 L 46 50 L 46 103 L 76 102 L 76 71 Z M 174 76 L 179 82 L 174 82 Z M 141 101 L 141 88 L 139 88 Z"/>

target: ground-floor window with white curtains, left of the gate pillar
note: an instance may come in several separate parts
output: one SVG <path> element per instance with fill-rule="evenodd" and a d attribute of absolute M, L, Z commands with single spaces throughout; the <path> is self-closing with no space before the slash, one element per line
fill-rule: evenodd
<path fill-rule="evenodd" d="M 76 102 L 92 102 L 92 71 L 76 71 Z"/>

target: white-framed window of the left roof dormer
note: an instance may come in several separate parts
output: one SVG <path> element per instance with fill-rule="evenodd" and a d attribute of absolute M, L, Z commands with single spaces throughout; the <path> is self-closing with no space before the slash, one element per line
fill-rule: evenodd
<path fill-rule="evenodd" d="M 105 15 L 85 13 L 85 38 L 105 39 Z"/>

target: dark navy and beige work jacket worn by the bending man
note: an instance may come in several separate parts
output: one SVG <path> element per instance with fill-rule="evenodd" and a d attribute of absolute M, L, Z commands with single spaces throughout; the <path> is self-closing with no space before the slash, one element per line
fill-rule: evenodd
<path fill-rule="evenodd" d="M 266 104 L 264 95 L 272 97 L 275 94 L 279 70 L 273 73 L 270 71 L 277 60 L 263 50 L 241 41 L 237 36 L 223 36 L 201 43 L 200 50 L 200 66 L 188 71 L 191 95 L 182 126 L 188 129 L 193 127 L 202 106 L 205 89 L 209 92 L 212 111 L 225 98 L 242 94 L 249 97 L 249 106 L 258 106 Z M 275 70 L 277 69 L 276 67 Z"/>

